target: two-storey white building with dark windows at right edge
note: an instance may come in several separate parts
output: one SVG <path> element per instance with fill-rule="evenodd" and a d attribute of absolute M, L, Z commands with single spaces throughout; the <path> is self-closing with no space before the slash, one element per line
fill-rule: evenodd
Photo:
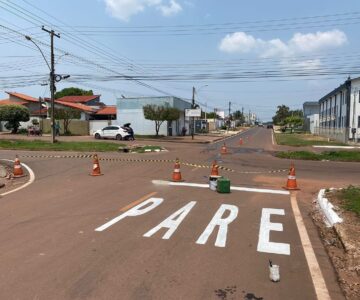
<path fill-rule="evenodd" d="M 359 141 L 360 77 L 348 78 L 319 100 L 318 133 L 338 141 Z"/>

